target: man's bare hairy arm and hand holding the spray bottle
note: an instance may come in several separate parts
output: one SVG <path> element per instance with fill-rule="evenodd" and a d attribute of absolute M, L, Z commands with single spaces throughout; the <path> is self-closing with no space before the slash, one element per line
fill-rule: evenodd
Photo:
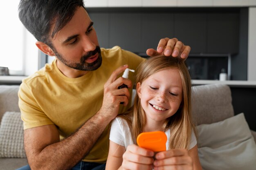
<path fill-rule="evenodd" d="M 115 70 L 104 85 L 101 109 L 73 135 L 59 140 L 55 125 L 39 126 L 24 131 L 24 144 L 31 169 L 70 169 L 85 157 L 109 122 L 117 116 L 120 102 L 128 104 L 127 88 L 117 89 L 123 83 L 132 87 L 130 80 L 117 78 L 128 66 Z"/>

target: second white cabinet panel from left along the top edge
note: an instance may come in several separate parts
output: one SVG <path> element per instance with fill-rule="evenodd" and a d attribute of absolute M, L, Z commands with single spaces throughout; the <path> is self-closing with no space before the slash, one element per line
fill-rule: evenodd
<path fill-rule="evenodd" d="M 108 7 L 142 7 L 142 0 L 108 0 Z"/>

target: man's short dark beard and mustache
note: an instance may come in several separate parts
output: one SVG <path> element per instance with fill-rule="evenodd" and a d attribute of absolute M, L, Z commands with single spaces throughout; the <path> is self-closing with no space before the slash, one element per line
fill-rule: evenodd
<path fill-rule="evenodd" d="M 83 57 L 81 57 L 81 60 L 79 63 L 74 63 L 72 61 L 67 61 L 64 59 L 64 57 L 57 52 L 57 50 L 52 47 L 52 50 L 54 51 L 54 54 L 56 57 L 65 65 L 67 65 L 70 68 L 74 68 L 76 70 L 83 70 L 83 71 L 94 71 L 97 70 L 102 63 L 102 57 L 101 57 L 101 48 L 99 46 L 96 46 L 94 51 L 89 51 L 87 54 L 85 54 Z M 89 57 L 94 56 L 98 53 L 98 58 L 93 63 L 86 63 L 85 60 Z"/>

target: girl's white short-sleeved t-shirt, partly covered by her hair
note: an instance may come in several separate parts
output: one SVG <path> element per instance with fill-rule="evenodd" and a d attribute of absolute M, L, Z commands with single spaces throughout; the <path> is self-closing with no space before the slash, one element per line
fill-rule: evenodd
<path fill-rule="evenodd" d="M 169 148 L 170 129 L 166 131 L 165 134 L 167 136 L 166 148 Z M 109 139 L 116 144 L 124 146 L 125 149 L 127 149 L 129 145 L 134 144 L 132 141 L 132 134 L 126 120 L 120 117 L 117 117 L 112 121 Z M 197 141 L 195 133 L 192 131 L 189 149 L 193 148 L 196 144 Z"/>

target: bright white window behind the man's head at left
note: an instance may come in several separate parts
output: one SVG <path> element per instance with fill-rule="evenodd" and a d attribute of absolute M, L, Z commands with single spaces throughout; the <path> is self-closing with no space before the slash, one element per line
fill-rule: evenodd
<path fill-rule="evenodd" d="M 8 67 L 10 75 L 30 75 L 38 70 L 38 48 L 19 20 L 19 2 L 8 0 L 0 5 L 0 66 Z"/>

